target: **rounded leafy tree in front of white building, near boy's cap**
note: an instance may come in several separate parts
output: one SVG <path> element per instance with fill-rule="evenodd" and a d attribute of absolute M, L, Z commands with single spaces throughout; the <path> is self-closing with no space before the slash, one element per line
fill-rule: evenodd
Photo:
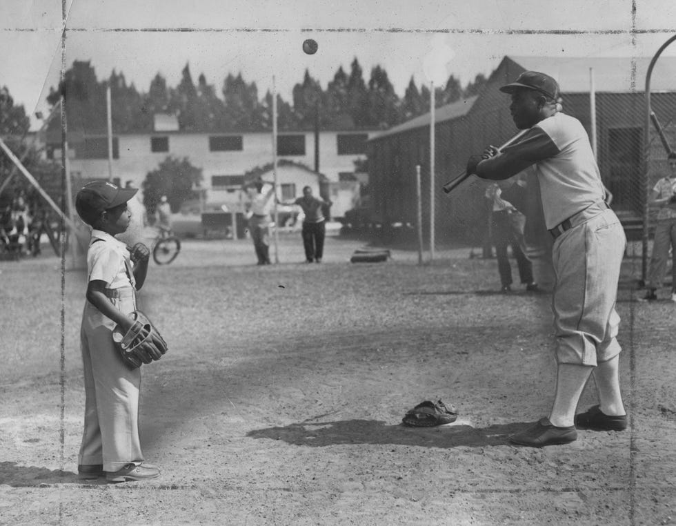
<path fill-rule="evenodd" d="M 202 169 L 192 166 L 188 157 L 177 159 L 169 155 L 157 169 L 146 174 L 142 184 L 143 205 L 148 214 L 153 214 L 161 197 L 166 195 L 172 212 L 177 212 L 181 204 L 197 198 L 195 187 L 202 179 Z"/>

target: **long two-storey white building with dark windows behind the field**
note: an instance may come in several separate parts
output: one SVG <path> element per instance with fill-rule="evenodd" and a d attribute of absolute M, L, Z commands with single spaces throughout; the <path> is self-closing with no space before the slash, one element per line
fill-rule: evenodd
<path fill-rule="evenodd" d="M 221 204 L 239 199 L 243 175 L 272 162 L 270 132 L 186 133 L 175 119 L 157 116 L 152 133 L 121 133 L 112 137 L 112 161 L 108 161 L 108 137 L 81 135 L 70 137 L 70 173 L 74 181 L 108 179 L 121 185 L 130 181 L 141 187 L 146 174 L 158 168 L 168 156 L 187 157 L 192 166 L 201 168 L 201 188 L 206 191 L 205 204 Z M 366 159 L 366 141 L 377 130 L 334 131 L 319 133 L 319 172 L 326 177 L 328 197 L 334 202 L 333 217 L 342 217 L 359 197 L 355 184 L 355 161 Z M 60 157 L 60 144 L 48 144 L 48 155 Z M 313 131 L 280 132 L 277 159 L 315 168 L 315 133 Z M 284 182 L 284 198 L 300 197 L 302 182 Z M 295 192 L 295 196 L 290 195 Z M 356 193 L 356 195 L 354 195 Z"/>

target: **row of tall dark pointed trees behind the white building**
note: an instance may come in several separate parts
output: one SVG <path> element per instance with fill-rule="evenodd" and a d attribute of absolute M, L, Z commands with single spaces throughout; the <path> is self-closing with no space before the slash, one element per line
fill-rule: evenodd
<path fill-rule="evenodd" d="M 477 75 L 463 88 L 450 75 L 445 86 L 435 88 L 435 106 L 476 95 L 485 83 L 486 77 Z M 272 129 L 269 90 L 260 98 L 255 81 L 247 82 L 238 73 L 228 74 L 217 93 L 203 73 L 195 84 L 189 64 L 183 68 L 177 86 L 168 86 L 166 79 L 157 73 L 148 91 L 140 92 L 122 72 L 113 70 L 108 79 L 99 80 L 90 61 L 74 61 L 59 88 L 50 88 L 47 100 L 53 107 L 64 94 L 68 130 L 105 133 L 108 85 L 115 133 L 150 132 L 156 113 L 176 115 L 183 131 Z M 411 77 L 404 96 L 399 97 L 384 68 L 372 68 L 367 82 L 355 57 L 349 74 L 340 66 L 326 89 L 306 70 L 303 80 L 292 89 L 291 101 L 277 94 L 277 126 L 279 130 L 308 130 L 315 124 L 325 129 L 386 129 L 427 113 L 429 108 L 427 86 L 418 88 Z M 52 126 L 59 126 L 58 119 Z"/>

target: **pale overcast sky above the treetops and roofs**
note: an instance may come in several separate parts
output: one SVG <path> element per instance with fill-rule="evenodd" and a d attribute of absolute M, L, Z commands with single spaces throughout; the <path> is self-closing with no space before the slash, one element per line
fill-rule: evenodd
<path fill-rule="evenodd" d="M 321 86 L 357 57 L 384 67 L 397 94 L 453 73 L 464 85 L 505 55 L 653 56 L 676 33 L 673 0 L 0 0 L 0 85 L 27 113 L 46 108 L 62 65 L 90 60 L 146 92 L 186 64 L 220 93 L 228 72 L 291 99 L 306 68 Z M 313 38 L 315 55 L 301 44 Z M 65 57 L 63 50 L 65 49 Z M 676 55 L 676 43 L 664 51 Z M 436 81 L 439 83 L 439 81 Z M 639 86 L 642 83 L 638 83 Z"/>

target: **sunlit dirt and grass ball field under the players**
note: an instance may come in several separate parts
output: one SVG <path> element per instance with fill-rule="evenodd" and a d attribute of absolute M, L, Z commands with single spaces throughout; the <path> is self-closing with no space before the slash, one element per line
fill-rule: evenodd
<path fill-rule="evenodd" d="M 633 301 L 639 260 L 618 304 L 630 429 L 530 449 L 506 436 L 550 406 L 550 296 L 495 293 L 468 249 L 350 264 L 361 244 L 330 237 L 310 265 L 284 236 L 258 267 L 248 242 L 188 241 L 151 266 L 141 305 L 170 351 L 143 366 L 141 440 L 162 474 L 119 485 L 75 473 L 83 273 L 0 262 L 0 523 L 676 524 L 676 305 Z M 400 425 L 439 398 L 457 422 Z"/>

